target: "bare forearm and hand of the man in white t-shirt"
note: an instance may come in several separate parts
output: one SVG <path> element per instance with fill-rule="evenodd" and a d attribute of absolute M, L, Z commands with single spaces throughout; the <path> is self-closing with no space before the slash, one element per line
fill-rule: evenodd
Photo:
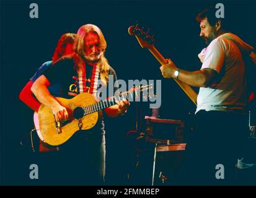
<path fill-rule="evenodd" d="M 175 78 L 174 72 L 178 69 L 175 64 L 168 60 L 168 64 L 162 65 L 160 67 L 162 75 L 165 78 Z M 209 87 L 213 84 L 214 80 L 218 77 L 218 72 L 213 69 L 206 68 L 198 71 L 185 71 L 180 69 L 179 80 L 185 82 L 185 84 L 191 85 L 193 87 Z"/>

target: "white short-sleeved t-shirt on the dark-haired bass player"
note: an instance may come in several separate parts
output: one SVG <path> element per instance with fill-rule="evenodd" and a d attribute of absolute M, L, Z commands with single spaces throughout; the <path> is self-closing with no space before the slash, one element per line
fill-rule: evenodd
<path fill-rule="evenodd" d="M 247 104 L 245 66 L 241 51 L 234 41 L 239 48 L 244 48 L 245 51 L 252 48 L 232 33 L 225 33 L 215 38 L 207 47 L 201 69 L 214 69 L 219 77 L 217 82 L 210 87 L 200 87 L 196 113 L 200 110 L 237 111 L 245 109 Z"/>

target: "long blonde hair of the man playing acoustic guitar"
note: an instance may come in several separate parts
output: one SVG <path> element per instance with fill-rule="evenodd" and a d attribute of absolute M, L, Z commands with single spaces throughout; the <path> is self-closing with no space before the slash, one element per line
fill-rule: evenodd
<path fill-rule="evenodd" d="M 100 40 L 100 50 L 103 52 L 100 60 L 97 64 L 99 64 L 100 69 L 100 79 L 104 82 L 108 82 L 108 70 L 110 69 L 110 65 L 108 64 L 107 59 L 104 56 L 105 50 L 107 48 L 107 42 L 100 28 L 93 24 L 82 25 L 76 34 L 76 39 L 74 40 L 74 52 L 79 56 L 76 56 L 76 66 L 77 69 L 82 69 L 82 62 L 84 58 L 84 37 L 86 37 L 87 33 L 94 32 L 98 35 Z"/>

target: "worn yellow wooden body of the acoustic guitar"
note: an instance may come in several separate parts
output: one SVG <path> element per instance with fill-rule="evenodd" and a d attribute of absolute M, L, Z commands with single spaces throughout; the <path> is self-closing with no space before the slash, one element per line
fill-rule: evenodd
<path fill-rule="evenodd" d="M 61 126 L 61 132 L 56 131 L 55 118 L 51 108 L 45 105 L 41 105 L 38 110 L 38 123 L 41 138 L 43 142 L 50 145 L 60 145 L 66 142 L 75 132 L 79 130 L 78 123 L 79 120 L 75 119 L 73 116 L 73 111 L 78 106 L 87 106 L 96 103 L 94 96 L 90 93 L 80 93 L 74 98 L 55 98 L 58 102 L 66 108 L 69 114 L 66 124 Z M 91 129 L 95 126 L 98 120 L 98 112 L 92 114 L 87 114 L 81 118 L 82 127 L 81 130 Z M 40 138 L 40 139 L 41 139 Z"/>

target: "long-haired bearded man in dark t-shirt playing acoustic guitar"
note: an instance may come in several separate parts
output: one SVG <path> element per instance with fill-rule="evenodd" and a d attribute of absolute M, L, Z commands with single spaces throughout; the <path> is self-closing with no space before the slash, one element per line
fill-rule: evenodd
<path fill-rule="evenodd" d="M 107 42 L 96 25 L 82 25 L 74 41 L 74 54 L 63 57 L 53 64 L 32 86 L 38 100 L 51 108 L 56 121 L 67 119 L 69 114 L 64 106 L 50 94 L 48 87 L 60 82 L 62 97 L 72 98 L 79 93 L 90 93 L 94 97 L 100 85 L 107 88 L 108 79 L 117 76 L 104 56 Z M 102 88 L 102 87 L 101 87 Z M 115 89 L 115 88 L 114 88 Z M 117 90 L 117 88 L 116 88 Z M 116 101 L 117 105 L 105 108 L 105 114 L 117 117 L 126 112 L 129 101 Z M 103 114 L 99 112 L 97 124 L 87 131 L 79 131 L 61 145 L 64 151 L 63 171 L 65 184 L 102 184 L 105 176 L 105 130 Z M 69 171 L 66 168 L 69 167 Z"/>

